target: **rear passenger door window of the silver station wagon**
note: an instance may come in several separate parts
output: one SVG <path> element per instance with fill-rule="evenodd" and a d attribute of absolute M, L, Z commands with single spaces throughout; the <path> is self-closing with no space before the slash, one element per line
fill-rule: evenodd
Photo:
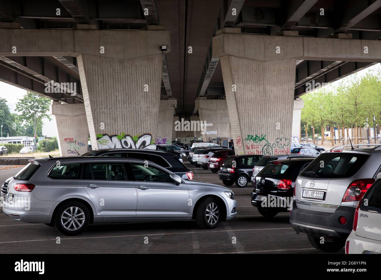
<path fill-rule="evenodd" d="M 123 163 L 86 163 L 83 180 L 126 181 Z"/>

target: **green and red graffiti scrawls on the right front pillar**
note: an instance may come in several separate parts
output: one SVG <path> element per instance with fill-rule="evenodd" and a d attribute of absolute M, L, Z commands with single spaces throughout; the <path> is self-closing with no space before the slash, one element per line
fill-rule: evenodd
<path fill-rule="evenodd" d="M 290 139 L 286 137 L 279 137 L 275 139 L 274 143 L 266 139 L 266 135 L 248 134 L 245 138 L 245 148 L 247 154 L 253 155 L 280 155 L 290 154 Z"/>

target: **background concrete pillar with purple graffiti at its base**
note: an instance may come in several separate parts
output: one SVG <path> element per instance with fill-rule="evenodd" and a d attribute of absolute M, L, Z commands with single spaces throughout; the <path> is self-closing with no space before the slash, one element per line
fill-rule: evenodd
<path fill-rule="evenodd" d="M 157 138 L 155 139 L 156 144 L 166 144 L 167 141 L 170 142 L 173 140 L 173 115 L 175 114 L 175 105 L 177 105 L 177 101 L 174 98 L 160 100 L 159 123 Z"/>

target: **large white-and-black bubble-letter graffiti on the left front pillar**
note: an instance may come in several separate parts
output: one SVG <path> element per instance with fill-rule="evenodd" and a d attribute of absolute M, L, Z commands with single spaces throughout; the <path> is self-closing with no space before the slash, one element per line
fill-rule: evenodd
<path fill-rule="evenodd" d="M 126 135 L 125 133 L 111 136 L 109 134 L 97 134 L 96 138 L 98 149 L 156 149 L 150 133 L 137 136 Z"/>

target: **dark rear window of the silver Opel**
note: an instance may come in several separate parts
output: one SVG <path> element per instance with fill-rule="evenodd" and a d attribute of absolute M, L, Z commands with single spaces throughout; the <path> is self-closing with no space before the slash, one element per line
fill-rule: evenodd
<path fill-rule="evenodd" d="M 311 162 L 301 173 L 301 176 L 307 178 L 351 177 L 359 171 L 368 157 L 364 154 L 324 153 Z"/>

